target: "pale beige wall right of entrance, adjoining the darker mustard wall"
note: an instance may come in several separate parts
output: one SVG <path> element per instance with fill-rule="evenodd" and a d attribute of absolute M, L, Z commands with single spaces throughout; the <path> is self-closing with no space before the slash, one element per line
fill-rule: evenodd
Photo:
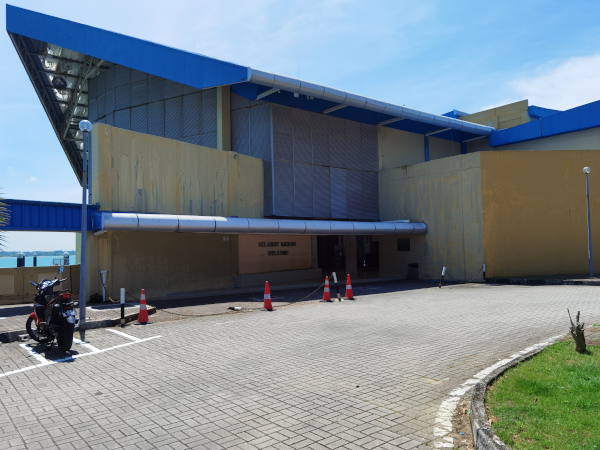
<path fill-rule="evenodd" d="M 380 238 L 382 275 L 405 276 L 419 264 L 422 279 L 481 280 L 483 261 L 479 154 L 459 155 L 380 173 L 382 220 L 427 223 L 424 236 L 411 237 L 411 250 L 397 250 L 396 237 Z"/>

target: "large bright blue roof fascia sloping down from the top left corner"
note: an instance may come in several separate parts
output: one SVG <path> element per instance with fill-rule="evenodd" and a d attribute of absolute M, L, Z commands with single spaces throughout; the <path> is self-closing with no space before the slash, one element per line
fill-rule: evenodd
<path fill-rule="evenodd" d="M 6 30 L 198 89 L 248 80 L 248 67 L 6 5 Z"/>

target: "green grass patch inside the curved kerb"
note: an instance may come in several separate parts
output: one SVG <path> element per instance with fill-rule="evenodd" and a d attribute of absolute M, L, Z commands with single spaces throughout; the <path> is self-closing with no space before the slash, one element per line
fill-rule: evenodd
<path fill-rule="evenodd" d="M 518 449 L 600 449 L 600 347 L 559 342 L 507 371 L 486 405 L 494 431 Z"/>

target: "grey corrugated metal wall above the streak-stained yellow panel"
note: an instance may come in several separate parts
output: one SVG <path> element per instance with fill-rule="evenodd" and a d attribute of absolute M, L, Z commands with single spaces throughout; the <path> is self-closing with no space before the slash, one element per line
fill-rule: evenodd
<path fill-rule="evenodd" d="M 216 89 L 200 91 L 118 65 L 89 80 L 88 89 L 92 121 L 217 146 Z"/>

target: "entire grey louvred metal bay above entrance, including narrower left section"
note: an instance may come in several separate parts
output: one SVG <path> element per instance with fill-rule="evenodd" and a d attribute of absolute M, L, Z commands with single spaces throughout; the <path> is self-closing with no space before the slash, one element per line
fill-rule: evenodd
<path fill-rule="evenodd" d="M 231 96 L 232 147 L 265 161 L 265 215 L 376 220 L 374 126 Z"/>

